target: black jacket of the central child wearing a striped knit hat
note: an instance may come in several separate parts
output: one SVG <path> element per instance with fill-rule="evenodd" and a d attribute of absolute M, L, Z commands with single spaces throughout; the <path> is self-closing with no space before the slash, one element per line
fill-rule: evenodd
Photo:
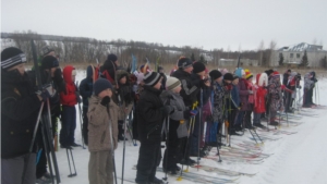
<path fill-rule="evenodd" d="M 161 142 L 161 128 L 165 119 L 161 90 L 144 86 L 136 107 L 137 132 L 141 143 Z"/>

